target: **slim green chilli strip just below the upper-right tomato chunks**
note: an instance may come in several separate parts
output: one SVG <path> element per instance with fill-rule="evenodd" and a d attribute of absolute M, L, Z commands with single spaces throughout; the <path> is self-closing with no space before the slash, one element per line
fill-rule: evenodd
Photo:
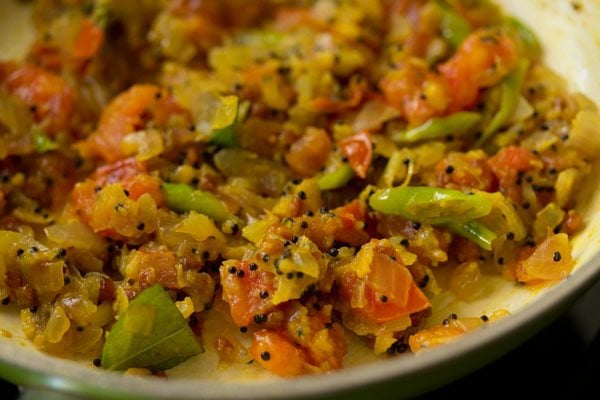
<path fill-rule="evenodd" d="M 393 134 L 392 140 L 398 144 L 404 144 L 442 139 L 448 135 L 464 135 L 481 119 L 481 114 L 470 111 L 457 112 L 442 118 L 431 118 L 422 125 Z"/>

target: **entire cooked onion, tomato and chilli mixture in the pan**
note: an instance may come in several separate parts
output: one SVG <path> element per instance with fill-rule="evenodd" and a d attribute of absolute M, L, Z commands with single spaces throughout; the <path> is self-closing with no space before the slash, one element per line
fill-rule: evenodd
<path fill-rule="evenodd" d="M 442 292 L 574 266 L 600 117 L 489 1 L 39 0 L 33 18 L 26 60 L 0 64 L 0 299 L 43 351 L 320 373 L 349 335 L 415 352 L 504 314 L 422 329 Z"/>

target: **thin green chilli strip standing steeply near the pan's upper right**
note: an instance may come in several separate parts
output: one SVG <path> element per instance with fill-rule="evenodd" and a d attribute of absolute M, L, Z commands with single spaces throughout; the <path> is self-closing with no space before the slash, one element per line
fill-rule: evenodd
<path fill-rule="evenodd" d="M 517 67 L 504 78 L 501 84 L 502 96 L 500 98 L 500 107 L 483 134 L 475 144 L 475 147 L 481 147 L 504 125 L 515 113 L 521 96 L 521 88 L 525 81 L 525 75 L 529 69 L 529 60 L 522 59 Z"/>

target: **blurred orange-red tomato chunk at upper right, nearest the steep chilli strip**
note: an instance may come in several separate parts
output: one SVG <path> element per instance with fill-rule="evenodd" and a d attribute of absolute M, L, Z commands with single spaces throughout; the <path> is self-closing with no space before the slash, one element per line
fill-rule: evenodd
<path fill-rule="evenodd" d="M 451 97 L 449 112 L 471 108 L 479 89 L 493 86 L 517 62 L 517 46 L 505 33 L 480 29 L 461 44 L 448 61 L 439 66 Z"/>

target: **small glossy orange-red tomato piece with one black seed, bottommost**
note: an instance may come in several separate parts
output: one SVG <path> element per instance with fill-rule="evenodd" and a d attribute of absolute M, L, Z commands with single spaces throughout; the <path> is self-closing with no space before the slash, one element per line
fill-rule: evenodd
<path fill-rule="evenodd" d="M 278 332 L 255 332 L 250 353 L 265 369 L 279 376 L 291 378 L 304 372 L 302 351 Z"/>

